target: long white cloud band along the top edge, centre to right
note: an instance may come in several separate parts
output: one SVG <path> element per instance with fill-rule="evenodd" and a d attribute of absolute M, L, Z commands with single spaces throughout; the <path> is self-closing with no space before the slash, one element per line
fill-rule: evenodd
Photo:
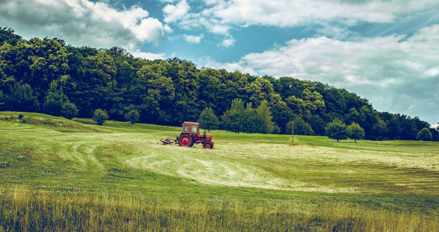
<path fill-rule="evenodd" d="M 189 12 L 185 0 L 168 4 L 163 11 L 165 21 L 183 29 L 204 27 L 212 33 L 229 35 L 230 28 L 249 25 L 292 27 L 309 23 L 328 25 L 337 22 L 346 26 L 358 22 L 394 22 L 404 13 L 439 7 L 437 0 L 204 0 L 205 8 Z M 179 7 L 179 4 L 181 6 Z M 319 32 L 349 33 L 339 27 L 324 26 Z"/>

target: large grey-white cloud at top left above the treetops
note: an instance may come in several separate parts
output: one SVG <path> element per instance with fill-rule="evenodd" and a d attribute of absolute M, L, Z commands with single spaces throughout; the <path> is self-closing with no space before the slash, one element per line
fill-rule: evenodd
<path fill-rule="evenodd" d="M 163 41 L 168 29 L 139 6 L 117 10 L 89 0 L 2 0 L 0 6 L 2 26 L 24 38 L 58 37 L 75 46 L 136 51 L 143 42 Z"/>

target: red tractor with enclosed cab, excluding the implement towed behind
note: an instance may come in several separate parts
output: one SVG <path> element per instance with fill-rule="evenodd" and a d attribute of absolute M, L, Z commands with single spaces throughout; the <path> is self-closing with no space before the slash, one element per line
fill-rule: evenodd
<path fill-rule="evenodd" d="M 192 147 L 195 143 L 202 143 L 203 147 L 206 149 L 214 148 L 214 142 L 212 142 L 212 135 L 199 134 L 199 123 L 198 122 L 183 122 L 182 132 L 177 137 L 180 146 Z"/>

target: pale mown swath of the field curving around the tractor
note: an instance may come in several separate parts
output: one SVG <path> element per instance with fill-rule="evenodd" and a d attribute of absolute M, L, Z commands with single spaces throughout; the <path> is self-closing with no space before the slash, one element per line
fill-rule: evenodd
<path fill-rule="evenodd" d="M 119 144 L 130 148 L 117 156 L 115 162 L 122 166 L 202 184 L 344 193 L 439 192 L 437 153 L 289 146 L 252 139 L 218 139 L 210 150 L 200 145 L 161 145 L 160 137 L 175 133 L 169 131 L 71 133 L 13 122 L 1 122 L 0 130 L 10 141 L 31 148 L 39 159 L 70 160 L 74 170 L 96 176 L 105 175 L 109 168 L 96 158 L 96 149 L 111 150 Z"/>

